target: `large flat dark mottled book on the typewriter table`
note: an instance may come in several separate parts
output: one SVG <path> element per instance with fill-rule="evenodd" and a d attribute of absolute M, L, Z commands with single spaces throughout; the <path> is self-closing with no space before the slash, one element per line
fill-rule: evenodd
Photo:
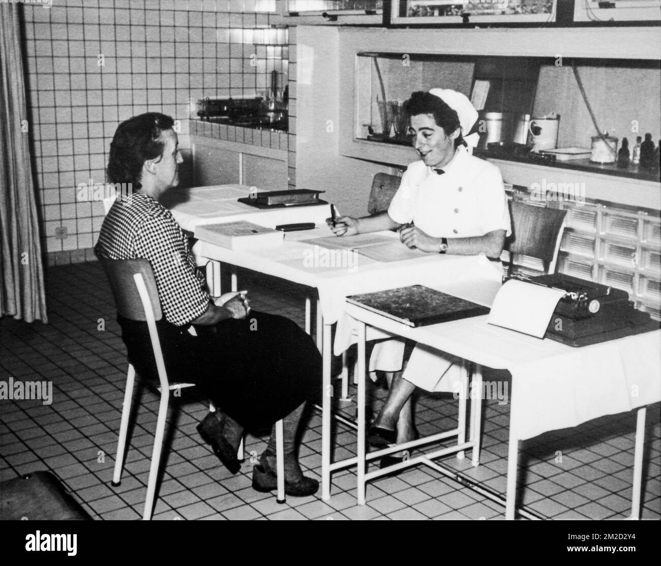
<path fill-rule="evenodd" d="M 486 315 L 488 307 L 422 285 L 352 295 L 347 302 L 410 327 Z"/>

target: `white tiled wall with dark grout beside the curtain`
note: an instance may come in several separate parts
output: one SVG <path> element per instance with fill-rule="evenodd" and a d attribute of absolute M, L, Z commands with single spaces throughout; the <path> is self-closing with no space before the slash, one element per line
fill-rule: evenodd
<path fill-rule="evenodd" d="M 30 131 L 49 255 L 89 249 L 100 202 L 76 202 L 76 186 L 104 182 L 118 123 L 147 111 L 182 120 L 202 96 L 252 94 L 272 63 L 233 30 L 279 22 L 280 0 L 56 0 L 21 5 Z M 286 69 L 284 69 L 286 71 Z M 65 232 L 64 230 L 65 229 Z M 81 257 L 81 254 L 75 254 Z M 85 254 L 82 254 L 85 257 Z"/>

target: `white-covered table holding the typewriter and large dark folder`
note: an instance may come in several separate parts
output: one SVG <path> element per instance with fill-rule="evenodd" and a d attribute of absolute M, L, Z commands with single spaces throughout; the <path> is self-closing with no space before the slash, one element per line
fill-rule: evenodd
<path fill-rule="evenodd" d="M 438 287 L 447 292 L 446 288 Z M 464 298 L 467 293 L 458 292 Z M 506 518 L 514 518 L 518 442 L 547 430 L 638 409 L 631 517 L 639 518 L 646 405 L 661 400 L 661 331 L 571 348 L 486 323 L 486 316 L 408 329 L 356 305 L 346 315 L 358 321 L 358 407 L 364 403 L 365 326 L 512 374 Z M 477 379 L 480 380 L 478 372 Z M 481 395 L 473 399 L 471 437 L 479 439 Z M 364 415 L 358 423 L 358 501 L 365 501 Z M 479 460 L 479 442 L 473 447 Z M 421 458 L 420 460 L 424 460 Z M 428 462 L 424 462 L 428 464 Z"/>

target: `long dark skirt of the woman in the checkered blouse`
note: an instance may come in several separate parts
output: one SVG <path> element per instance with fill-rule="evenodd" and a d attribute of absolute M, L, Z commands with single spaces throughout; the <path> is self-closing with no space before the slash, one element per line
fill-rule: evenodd
<path fill-rule="evenodd" d="M 136 372 L 158 380 L 147 323 L 118 317 Z M 171 382 L 193 382 L 248 429 L 270 426 L 321 393 L 321 354 L 295 323 L 251 311 L 214 327 L 157 323 Z"/>

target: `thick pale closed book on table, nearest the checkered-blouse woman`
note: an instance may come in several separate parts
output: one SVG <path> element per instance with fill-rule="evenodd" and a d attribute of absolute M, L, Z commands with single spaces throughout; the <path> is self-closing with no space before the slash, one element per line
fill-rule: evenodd
<path fill-rule="evenodd" d="M 256 249 L 282 244 L 284 232 L 239 220 L 198 226 L 195 237 L 229 249 Z"/>

